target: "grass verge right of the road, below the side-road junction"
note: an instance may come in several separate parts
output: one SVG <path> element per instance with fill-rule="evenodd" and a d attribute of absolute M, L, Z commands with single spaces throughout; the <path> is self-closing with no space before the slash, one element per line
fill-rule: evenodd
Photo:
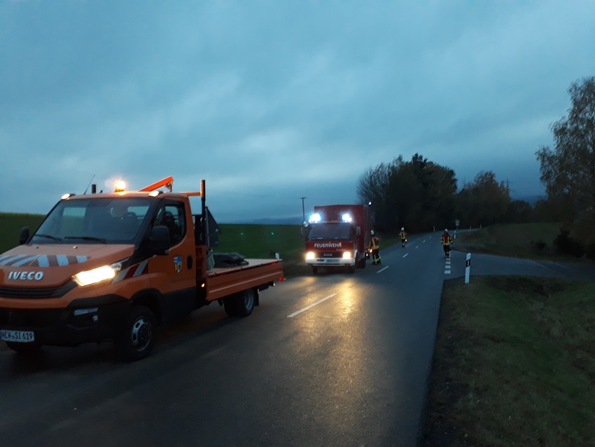
<path fill-rule="evenodd" d="M 421 445 L 595 445 L 594 331 L 594 282 L 445 282 Z"/>

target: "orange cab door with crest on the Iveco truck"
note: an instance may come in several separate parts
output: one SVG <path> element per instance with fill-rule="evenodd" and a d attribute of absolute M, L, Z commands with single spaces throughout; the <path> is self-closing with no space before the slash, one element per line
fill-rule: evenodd
<path fill-rule="evenodd" d="M 169 254 L 153 256 L 149 263 L 151 287 L 164 297 L 162 312 L 166 319 L 196 306 L 195 242 L 187 222 L 184 203 L 175 200 L 163 202 L 153 219 L 154 226 L 163 225 L 169 231 Z"/>

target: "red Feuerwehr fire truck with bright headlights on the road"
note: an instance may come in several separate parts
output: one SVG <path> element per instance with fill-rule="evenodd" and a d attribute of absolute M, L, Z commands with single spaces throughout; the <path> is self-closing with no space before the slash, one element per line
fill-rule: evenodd
<path fill-rule="evenodd" d="M 304 222 L 307 231 L 306 259 L 312 272 L 318 267 L 365 268 L 372 231 L 367 205 L 319 205 Z"/>

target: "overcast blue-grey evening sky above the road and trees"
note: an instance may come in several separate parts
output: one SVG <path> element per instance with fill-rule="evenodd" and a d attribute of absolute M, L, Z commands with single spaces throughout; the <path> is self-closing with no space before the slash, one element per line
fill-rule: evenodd
<path fill-rule="evenodd" d="M 594 0 L 0 0 L 0 212 L 172 175 L 222 223 L 299 222 L 414 153 L 543 194 L 586 76 Z"/>

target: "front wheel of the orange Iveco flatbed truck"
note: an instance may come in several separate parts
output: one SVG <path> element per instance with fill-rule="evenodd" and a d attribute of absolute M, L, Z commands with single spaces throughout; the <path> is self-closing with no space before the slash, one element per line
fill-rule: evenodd
<path fill-rule="evenodd" d="M 157 322 L 153 311 L 144 305 L 134 305 L 122 333 L 116 339 L 116 349 L 125 362 L 147 357 L 155 345 Z"/>

